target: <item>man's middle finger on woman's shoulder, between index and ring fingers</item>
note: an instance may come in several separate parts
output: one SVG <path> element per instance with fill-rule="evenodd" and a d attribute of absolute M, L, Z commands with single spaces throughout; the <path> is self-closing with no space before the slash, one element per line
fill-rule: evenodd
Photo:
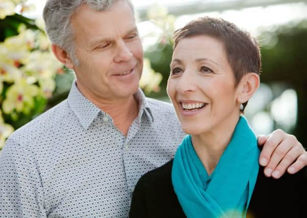
<path fill-rule="evenodd" d="M 280 144 L 278 144 L 276 149 L 273 151 L 273 154 L 271 155 L 269 163 L 265 168 L 266 176 L 271 176 L 281 159 L 284 158 L 285 155 L 294 147 L 296 142 L 296 138 L 292 135 L 289 135 L 286 139 L 282 140 Z M 286 168 L 284 170 L 286 171 Z"/>

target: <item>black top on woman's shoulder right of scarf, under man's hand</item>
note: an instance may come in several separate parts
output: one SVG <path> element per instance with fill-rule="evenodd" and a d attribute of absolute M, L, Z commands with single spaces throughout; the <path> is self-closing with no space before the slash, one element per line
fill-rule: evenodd
<path fill-rule="evenodd" d="M 305 217 L 301 199 L 307 195 L 306 184 L 307 167 L 296 174 L 286 172 L 279 179 L 266 177 L 260 167 L 249 211 L 254 217 Z"/>

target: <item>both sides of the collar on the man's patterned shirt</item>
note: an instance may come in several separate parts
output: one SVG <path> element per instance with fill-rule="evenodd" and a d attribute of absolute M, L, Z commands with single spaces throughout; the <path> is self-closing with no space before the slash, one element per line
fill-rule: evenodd
<path fill-rule="evenodd" d="M 134 97 L 139 102 L 139 113 L 137 117 L 138 120 L 141 119 L 141 116 L 145 111 L 150 121 L 153 122 L 153 114 L 148 105 L 144 92 L 139 88 L 138 91 L 134 94 Z M 67 101 L 68 105 L 70 108 L 72 108 L 73 112 L 77 116 L 79 122 L 86 130 L 99 113 L 102 113 L 103 115 L 106 114 L 95 104 L 85 98 L 85 96 L 77 88 L 76 80 L 73 82 L 72 88 L 70 88 Z"/>

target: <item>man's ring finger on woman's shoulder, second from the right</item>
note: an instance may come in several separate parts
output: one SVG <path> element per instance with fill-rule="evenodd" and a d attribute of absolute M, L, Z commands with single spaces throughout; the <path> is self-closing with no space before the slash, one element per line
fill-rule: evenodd
<path fill-rule="evenodd" d="M 285 174 L 288 167 L 303 153 L 304 149 L 299 145 L 299 143 L 297 143 L 296 146 L 292 147 L 276 166 L 272 173 L 272 177 L 274 179 L 279 179 L 282 175 Z"/>

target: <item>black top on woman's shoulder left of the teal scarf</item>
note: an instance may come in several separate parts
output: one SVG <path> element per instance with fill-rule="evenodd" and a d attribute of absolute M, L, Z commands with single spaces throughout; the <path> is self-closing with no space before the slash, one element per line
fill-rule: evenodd
<path fill-rule="evenodd" d="M 173 160 L 144 174 L 137 182 L 130 218 L 185 217 L 172 184 Z"/>

